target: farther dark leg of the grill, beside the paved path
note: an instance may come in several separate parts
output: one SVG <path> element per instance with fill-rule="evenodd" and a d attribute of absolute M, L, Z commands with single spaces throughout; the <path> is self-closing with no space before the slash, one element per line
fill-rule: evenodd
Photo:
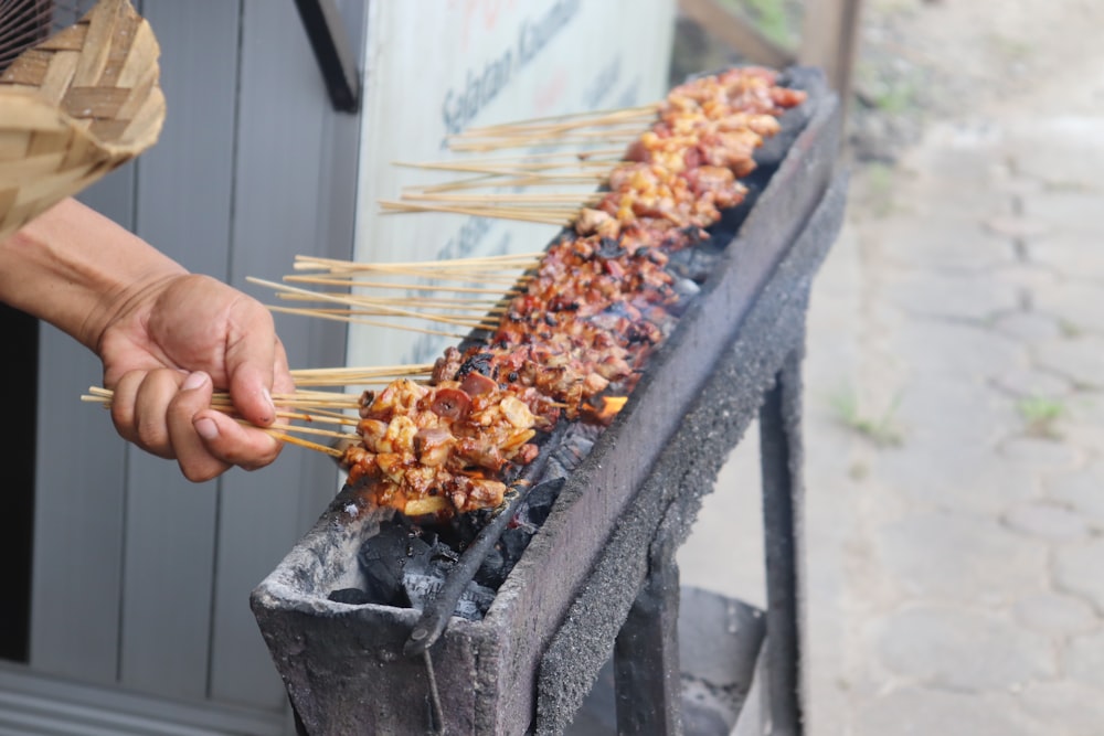
<path fill-rule="evenodd" d="M 763 531 L 766 552 L 767 734 L 800 736 L 802 351 L 779 371 L 760 409 Z"/>

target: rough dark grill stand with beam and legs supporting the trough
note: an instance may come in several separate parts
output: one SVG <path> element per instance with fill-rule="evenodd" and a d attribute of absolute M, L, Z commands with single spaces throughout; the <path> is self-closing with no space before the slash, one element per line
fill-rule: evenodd
<path fill-rule="evenodd" d="M 839 174 L 657 460 L 638 495 L 643 502 L 622 518 L 552 640 L 539 680 L 539 736 L 804 733 L 799 561 L 805 313 L 808 276 L 841 225 L 845 190 L 846 177 Z M 789 292 L 783 294 L 787 287 Z M 680 591 L 675 564 L 702 488 L 712 490 L 721 462 L 755 416 L 763 471 L 765 611 L 702 590 Z M 682 455 L 694 458 L 694 466 L 680 462 Z M 669 505 L 652 508 L 647 503 L 651 498 L 666 498 Z M 616 604 L 603 578 L 626 574 L 626 559 L 640 556 L 634 545 L 649 524 L 655 532 L 639 593 L 623 619 L 607 618 Z M 586 669 L 580 665 L 580 652 L 601 651 L 599 639 L 611 628 L 595 623 L 603 619 L 624 621 L 613 668 L 606 664 L 597 674 L 591 670 L 596 684 L 581 697 L 572 687 Z"/>

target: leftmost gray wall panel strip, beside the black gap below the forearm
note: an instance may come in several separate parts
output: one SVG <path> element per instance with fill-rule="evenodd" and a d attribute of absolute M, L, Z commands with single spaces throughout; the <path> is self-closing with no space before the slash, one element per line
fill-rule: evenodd
<path fill-rule="evenodd" d="M 135 166 L 81 199 L 124 226 L 134 222 Z M 102 378 L 99 361 L 43 326 L 39 345 L 31 665 L 114 682 L 118 665 L 124 442 L 110 417 L 78 402 Z M 66 438 L 79 437 L 70 442 Z M 64 447 L 60 455 L 59 447 Z"/>

